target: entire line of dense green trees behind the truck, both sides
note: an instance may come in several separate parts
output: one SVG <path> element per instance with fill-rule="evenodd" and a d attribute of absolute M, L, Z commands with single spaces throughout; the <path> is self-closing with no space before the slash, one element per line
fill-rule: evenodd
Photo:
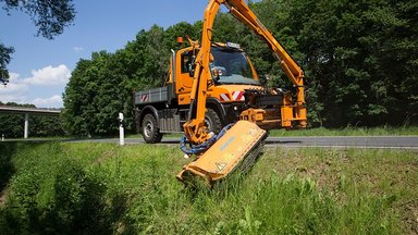
<path fill-rule="evenodd" d="M 250 8 L 306 73 L 311 126 L 403 125 L 418 120 L 418 3 L 413 0 L 262 0 Z M 202 13 L 204 15 L 204 13 Z M 155 25 L 115 52 L 78 61 L 65 88 L 71 134 L 118 131 L 118 112 L 134 129 L 135 90 L 161 85 L 176 37 L 199 39 L 202 23 Z M 229 13 L 214 41 L 239 44 L 271 85 L 292 88 L 269 48 Z"/>

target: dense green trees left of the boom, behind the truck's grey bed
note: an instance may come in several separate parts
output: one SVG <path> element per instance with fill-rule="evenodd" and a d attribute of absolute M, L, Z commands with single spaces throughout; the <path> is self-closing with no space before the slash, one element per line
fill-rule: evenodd
<path fill-rule="evenodd" d="M 188 23 L 167 30 L 155 25 L 140 30 L 124 49 L 94 52 L 91 60 L 78 61 L 64 92 L 65 128 L 75 135 L 111 135 L 118 132 L 118 113 L 123 112 L 125 128 L 133 132 L 133 91 L 161 86 L 176 37 L 195 34 Z"/>

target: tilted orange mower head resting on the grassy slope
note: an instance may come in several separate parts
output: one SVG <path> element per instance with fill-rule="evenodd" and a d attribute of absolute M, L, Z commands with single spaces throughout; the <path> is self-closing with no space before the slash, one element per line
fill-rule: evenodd
<path fill-rule="evenodd" d="M 186 176 L 192 174 L 205 178 L 210 184 L 219 181 L 244 162 L 254 161 L 247 158 L 251 157 L 254 151 L 259 151 L 266 137 L 267 132 L 255 123 L 238 121 L 196 161 L 184 165 L 176 177 L 184 182 L 187 181 Z"/>

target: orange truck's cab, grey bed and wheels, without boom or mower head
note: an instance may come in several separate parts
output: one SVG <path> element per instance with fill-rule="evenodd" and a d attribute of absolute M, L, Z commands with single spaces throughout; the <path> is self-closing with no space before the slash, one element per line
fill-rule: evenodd
<path fill-rule="evenodd" d="M 193 62 L 198 50 L 193 45 L 173 51 L 165 86 L 134 94 L 137 129 L 146 143 L 159 143 L 164 133 L 183 132 L 183 124 L 193 111 L 189 109 Z M 236 122 L 245 110 L 245 90 L 260 90 L 262 86 L 239 45 L 212 44 L 211 54 L 212 84 L 207 90 L 205 125 L 209 132 L 219 133 L 223 126 Z M 281 100 L 278 97 L 276 101 Z"/>

